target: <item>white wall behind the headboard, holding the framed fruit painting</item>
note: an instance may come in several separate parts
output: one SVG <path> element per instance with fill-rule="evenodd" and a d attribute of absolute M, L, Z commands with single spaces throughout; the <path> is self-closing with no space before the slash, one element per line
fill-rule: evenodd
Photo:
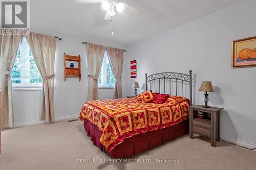
<path fill-rule="evenodd" d="M 209 105 L 223 107 L 221 137 L 247 147 L 256 146 L 256 67 L 231 68 L 232 40 L 256 36 L 256 1 L 246 1 L 191 21 L 178 28 L 131 45 L 129 62 L 137 59 L 138 78 L 127 79 L 124 95 L 133 94 L 132 83 L 144 83 L 144 74 L 193 70 L 194 104 L 203 104 L 201 81 L 212 81 L 215 92 Z M 140 89 L 145 90 L 145 89 Z"/>

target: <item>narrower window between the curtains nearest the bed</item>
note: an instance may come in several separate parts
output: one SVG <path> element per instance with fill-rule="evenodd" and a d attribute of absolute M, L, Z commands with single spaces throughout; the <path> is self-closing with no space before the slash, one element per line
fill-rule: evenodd
<path fill-rule="evenodd" d="M 114 88 L 115 77 L 110 67 L 108 54 L 104 53 L 104 58 L 99 74 L 99 88 Z"/>

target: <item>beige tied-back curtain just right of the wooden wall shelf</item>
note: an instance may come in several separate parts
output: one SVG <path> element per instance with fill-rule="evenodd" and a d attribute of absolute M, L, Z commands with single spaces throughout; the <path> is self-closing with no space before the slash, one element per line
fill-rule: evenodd
<path fill-rule="evenodd" d="M 88 62 L 88 101 L 98 99 L 98 78 L 104 58 L 105 47 L 86 44 Z"/>

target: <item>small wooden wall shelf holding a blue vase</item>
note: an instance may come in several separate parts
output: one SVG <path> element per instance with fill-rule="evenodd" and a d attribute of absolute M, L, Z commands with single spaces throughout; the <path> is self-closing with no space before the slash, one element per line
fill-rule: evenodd
<path fill-rule="evenodd" d="M 66 61 L 78 62 L 78 67 L 66 67 Z M 66 81 L 67 76 L 77 76 L 79 81 L 81 81 L 81 57 L 69 56 L 64 53 L 64 81 Z"/>

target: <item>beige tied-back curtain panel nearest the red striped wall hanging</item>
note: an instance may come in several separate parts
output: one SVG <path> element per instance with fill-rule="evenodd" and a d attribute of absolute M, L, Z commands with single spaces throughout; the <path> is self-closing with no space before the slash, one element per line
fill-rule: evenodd
<path fill-rule="evenodd" d="M 122 70 L 123 70 L 123 50 L 116 48 L 106 48 L 108 53 L 111 69 L 114 73 L 115 82 L 115 94 L 114 98 L 122 98 Z"/>

